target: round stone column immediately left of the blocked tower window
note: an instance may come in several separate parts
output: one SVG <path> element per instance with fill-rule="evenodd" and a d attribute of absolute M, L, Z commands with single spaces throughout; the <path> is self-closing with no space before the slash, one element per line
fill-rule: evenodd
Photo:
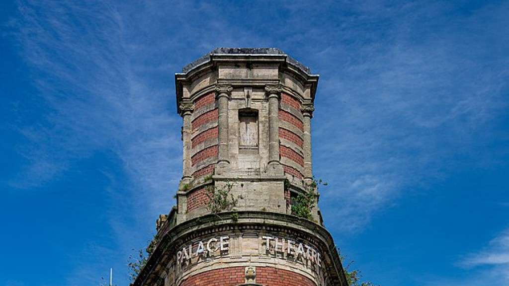
<path fill-rule="evenodd" d="M 233 88 L 231 85 L 217 85 L 217 101 L 218 101 L 218 154 L 217 166 L 215 174 L 221 175 L 230 165 L 228 155 L 228 105 L 230 102 L 230 95 Z"/>

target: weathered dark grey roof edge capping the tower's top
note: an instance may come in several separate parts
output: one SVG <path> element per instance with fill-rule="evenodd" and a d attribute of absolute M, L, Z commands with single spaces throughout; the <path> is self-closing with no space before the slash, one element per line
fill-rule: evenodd
<path fill-rule="evenodd" d="M 286 58 L 286 62 L 297 67 L 302 72 L 311 75 L 311 70 L 299 63 L 297 60 L 286 54 L 284 51 L 279 48 L 215 48 L 211 52 L 205 54 L 200 59 L 190 63 L 182 69 L 182 73 L 187 73 L 194 68 L 201 66 L 205 63 L 211 61 L 213 56 L 218 55 L 231 55 L 231 56 L 284 56 Z"/>

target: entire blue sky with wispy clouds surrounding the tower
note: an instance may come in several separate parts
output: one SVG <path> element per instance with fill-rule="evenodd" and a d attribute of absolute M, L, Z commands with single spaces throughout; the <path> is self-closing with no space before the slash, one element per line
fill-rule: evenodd
<path fill-rule="evenodd" d="M 6 2 L 0 284 L 127 285 L 174 204 L 174 73 L 279 47 L 321 75 L 320 206 L 388 285 L 509 284 L 509 2 Z"/>

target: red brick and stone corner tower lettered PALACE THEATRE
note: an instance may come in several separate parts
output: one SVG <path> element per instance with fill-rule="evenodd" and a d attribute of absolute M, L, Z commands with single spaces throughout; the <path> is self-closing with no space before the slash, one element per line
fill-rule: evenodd
<path fill-rule="evenodd" d="M 277 48 L 217 48 L 175 74 L 183 176 L 134 285 L 347 285 L 317 199 L 292 214 L 315 190 L 317 84 Z"/>

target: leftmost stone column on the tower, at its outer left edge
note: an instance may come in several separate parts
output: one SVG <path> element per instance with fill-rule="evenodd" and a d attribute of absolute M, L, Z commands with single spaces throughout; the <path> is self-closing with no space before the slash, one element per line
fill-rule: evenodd
<path fill-rule="evenodd" d="M 191 102 L 180 103 L 180 115 L 183 118 L 182 125 L 182 141 L 183 141 L 183 154 L 182 154 L 182 181 L 188 183 L 191 181 L 191 117 L 194 110 L 194 105 Z"/>

